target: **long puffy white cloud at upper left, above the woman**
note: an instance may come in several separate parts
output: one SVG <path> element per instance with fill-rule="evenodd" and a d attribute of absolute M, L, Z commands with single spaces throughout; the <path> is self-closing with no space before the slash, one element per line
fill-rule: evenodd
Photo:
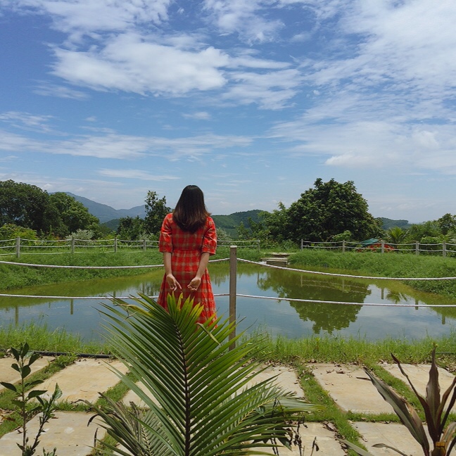
<path fill-rule="evenodd" d="M 182 95 L 194 89 L 218 89 L 226 83 L 220 68 L 228 58 L 221 51 L 213 47 L 182 51 L 146 42 L 134 33 L 113 38 L 103 49 L 55 49 L 55 53 L 55 75 L 98 90 Z"/>

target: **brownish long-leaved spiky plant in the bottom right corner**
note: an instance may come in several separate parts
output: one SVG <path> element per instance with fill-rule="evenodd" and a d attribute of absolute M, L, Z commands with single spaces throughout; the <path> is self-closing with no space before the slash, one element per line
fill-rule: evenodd
<path fill-rule="evenodd" d="M 456 423 L 452 422 L 448 424 L 448 417 L 450 415 L 450 410 L 456 401 L 456 376 L 452 380 L 452 384 L 441 396 L 440 394 L 440 385 L 438 384 L 438 369 L 436 363 L 436 348 L 432 350 L 432 361 L 431 369 L 429 370 L 429 381 L 426 386 L 426 397 L 423 397 L 418 393 L 417 389 L 413 386 L 412 381 L 410 381 L 409 376 L 404 371 L 403 367 L 400 365 L 400 361 L 394 356 L 394 362 L 398 365 L 400 372 L 405 376 L 410 388 L 417 396 L 419 403 L 422 405 L 424 410 L 424 416 L 431 437 L 433 449 L 431 450 L 431 445 L 429 445 L 429 439 L 426 436 L 424 431 L 424 426 L 422 420 L 419 418 L 416 410 L 412 407 L 410 403 L 407 402 L 402 396 L 398 395 L 390 386 L 388 386 L 384 381 L 377 378 L 369 369 L 365 368 L 366 374 L 369 376 L 369 379 L 372 381 L 372 384 L 376 387 L 377 391 L 381 396 L 386 400 L 388 404 L 393 407 L 395 414 L 398 415 L 400 421 L 407 427 L 408 431 L 412 434 L 413 438 L 421 445 L 424 456 L 448 456 L 455 446 L 456 443 Z M 449 402 L 448 402 L 448 399 Z M 448 402 L 448 407 L 445 405 Z M 361 456 L 372 456 L 371 453 L 362 450 L 362 448 L 353 445 L 348 441 L 343 441 L 346 443 L 348 448 L 357 452 Z M 384 447 L 390 448 L 395 452 L 398 452 L 400 455 L 407 456 L 405 453 L 400 452 L 397 448 L 392 448 L 384 443 L 378 443 L 374 447 Z"/>

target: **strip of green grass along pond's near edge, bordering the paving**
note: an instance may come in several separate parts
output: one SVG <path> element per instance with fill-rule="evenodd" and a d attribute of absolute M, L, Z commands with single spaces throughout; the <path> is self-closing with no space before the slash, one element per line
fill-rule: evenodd
<path fill-rule="evenodd" d="M 456 333 L 440 338 L 404 340 L 387 338 L 383 341 L 368 341 L 365 338 L 341 338 L 334 336 L 310 336 L 308 338 L 272 337 L 270 334 L 246 336 L 261 350 L 257 356 L 267 362 L 294 365 L 302 362 L 345 362 L 373 365 L 376 362 L 392 362 L 391 353 L 402 362 L 424 363 L 430 361 L 431 351 L 437 346 L 441 365 L 456 370 Z M 261 339 L 261 343 L 259 340 Z M 109 346 L 103 342 L 82 341 L 75 334 L 64 329 L 51 331 L 39 324 L 24 324 L 21 327 L 0 328 L 0 352 L 18 347 L 27 342 L 32 350 L 63 352 L 70 355 L 79 353 L 107 354 Z"/>

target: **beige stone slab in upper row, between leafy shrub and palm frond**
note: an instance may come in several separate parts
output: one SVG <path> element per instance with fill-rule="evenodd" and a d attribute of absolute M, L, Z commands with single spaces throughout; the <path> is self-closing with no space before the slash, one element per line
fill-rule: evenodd
<path fill-rule="evenodd" d="M 127 373 L 127 367 L 120 361 L 82 358 L 56 372 L 35 389 L 48 391 L 42 397 L 49 398 L 58 384 L 62 390 L 59 402 L 88 400 L 94 403 L 99 398 L 99 393 L 107 391 L 119 382 L 118 376 L 110 367 L 115 367 L 123 374 Z"/>

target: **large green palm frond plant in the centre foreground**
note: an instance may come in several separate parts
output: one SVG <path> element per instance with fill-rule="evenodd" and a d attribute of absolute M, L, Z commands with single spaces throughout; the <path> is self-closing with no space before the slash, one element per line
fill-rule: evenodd
<path fill-rule="evenodd" d="M 198 324 L 201 305 L 168 296 L 168 310 L 145 295 L 135 304 L 113 298 L 105 305 L 113 352 L 144 384 L 120 379 L 146 407 L 106 400 L 94 407 L 115 443 L 101 452 L 124 456 L 278 454 L 296 432 L 296 419 L 317 407 L 274 386 L 250 388 L 258 373 L 254 343 L 229 340 L 235 325 L 220 319 Z M 229 346 L 236 341 L 236 347 Z M 155 401 L 153 400 L 155 398 Z"/>

